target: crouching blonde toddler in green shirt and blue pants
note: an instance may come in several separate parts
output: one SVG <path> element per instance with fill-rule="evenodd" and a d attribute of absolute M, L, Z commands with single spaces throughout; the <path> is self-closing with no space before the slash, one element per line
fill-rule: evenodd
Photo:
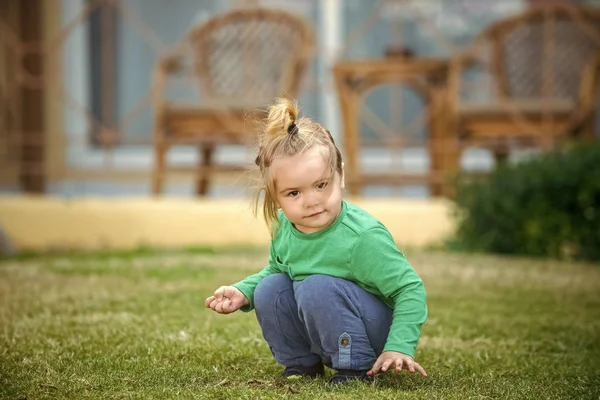
<path fill-rule="evenodd" d="M 386 370 L 426 375 L 414 360 L 423 282 L 386 227 L 342 199 L 344 164 L 329 131 L 297 116 L 295 102 L 278 99 L 260 135 L 255 205 L 272 232 L 269 264 L 205 305 L 254 309 L 284 377 L 317 377 L 324 366 L 336 371 L 331 384 Z"/>

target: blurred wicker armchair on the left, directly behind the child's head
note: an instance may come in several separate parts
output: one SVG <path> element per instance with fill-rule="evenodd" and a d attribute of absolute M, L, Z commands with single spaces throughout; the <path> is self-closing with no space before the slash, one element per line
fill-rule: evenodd
<path fill-rule="evenodd" d="M 155 69 L 153 193 L 162 192 L 166 154 L 174 145 L 200 150 L 200 165 L 192 168 L 198 195 L 207 193 L 217 170 L 241 168 L 216 165 L 215 147 L 248 145 L 253 138 L 247 111 L 260 110 L 277 96 L 297 95 L 312 47 L 312 28 L 300 17 L 278 10 L 235 9 L 192 29 L 183 50 L 162 58 Z M 191 66 L 186 54 L 191 54 Z M 168 78 L 186 74 L 199 85 L 200 104 L 178 104 L 165 97 Z"/>

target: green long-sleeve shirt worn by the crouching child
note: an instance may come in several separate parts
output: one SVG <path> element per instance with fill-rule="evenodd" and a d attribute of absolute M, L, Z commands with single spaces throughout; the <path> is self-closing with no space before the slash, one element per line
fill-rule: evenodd
<path fill-rule="evenodd" d="M 250 301 L 242 310 L 254 308 L 254 289 L 270 274 L 285 273 L 294 281 L 314 274 L 347 279 L 394 310 L 384 351 L 414 357 L 427 319 L 425 288 L 385 226 L 345 201 L 334 223 L 319 232 L 299 232 L 281 212 L 279 220 L 269 265 L 234 285 Z"/>

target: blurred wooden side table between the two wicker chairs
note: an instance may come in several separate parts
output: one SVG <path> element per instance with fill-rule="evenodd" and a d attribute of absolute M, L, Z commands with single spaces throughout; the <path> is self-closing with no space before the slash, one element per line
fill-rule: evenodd
<path fill-rule="evenodd" d="M 365 182 L 399 184 L 426 181 L 431 194 L 444 193 L 442 140 L 445 127 L 446 94 L 449 61 L 427 58 L 382 58 L 341 61 L 333 67 L 344 123 L 346 182 L 351 195 L 358 195 Z M 365 174 L 358 163 L 361 148 L 358 128 L 360 105 L 366 93 L 375 86 L 405 83 L 420 93 L 427 104 L 429 122 L 428 149 L 430 171 L 423 175 Z"/>

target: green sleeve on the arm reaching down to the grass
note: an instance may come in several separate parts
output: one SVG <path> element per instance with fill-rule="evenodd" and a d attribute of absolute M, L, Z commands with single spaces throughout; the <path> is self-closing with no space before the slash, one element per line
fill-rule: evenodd
<path fill-rule="evenodd" d="M 427 319 L 425 287 L 392 235 L 383 227 L 362 233 L 350 263 L 359 282 L 393 303 L 392 326 L 383 350 L 414 357 Z"/>

